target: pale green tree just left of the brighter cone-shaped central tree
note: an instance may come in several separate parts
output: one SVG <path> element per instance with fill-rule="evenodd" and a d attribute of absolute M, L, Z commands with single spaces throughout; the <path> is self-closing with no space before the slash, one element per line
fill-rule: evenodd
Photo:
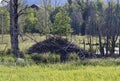
<path fill-rule="evenodd" d="M 41 7 L 41 9 L 37 11 L 37 14 L 36 14 L 36 18 L 37 18 L 36 29 L 40 32 L 40 34 L 47 34 L 48 33 L 49 28 L 46 27 L 45 21 L 47 21 L 48 26 L 49 26 L 50 23 L 51 23 L 49 15 L 51 15 L 52 10 L 53 10 L 53 8 L 51 6 L 49 6 L 48 12 L 47 12 L 47 17 L 45 16 L 46 14 L 45 14 L 44 8 Z M 51 18 L 52 18 L 52 15 L 51 15 Z"/>

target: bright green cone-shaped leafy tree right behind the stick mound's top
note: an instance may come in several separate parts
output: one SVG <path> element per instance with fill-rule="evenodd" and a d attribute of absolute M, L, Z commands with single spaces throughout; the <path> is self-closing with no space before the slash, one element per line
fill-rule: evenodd
<path fill-rule="evenodd" d="M 51 26 L 51 33 L 54 35 L 69 35 L 72 32 L 71 19 L 64 9 L 61 9 L 55 16 L 55 21 Z"/>

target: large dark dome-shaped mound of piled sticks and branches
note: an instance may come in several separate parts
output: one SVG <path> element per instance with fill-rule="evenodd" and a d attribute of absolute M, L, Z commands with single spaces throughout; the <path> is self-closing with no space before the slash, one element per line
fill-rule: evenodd
<path fill-rule="evenodd" d="M 55 53 L 60 54 L 61 61 L 65 61 L 67 56 L 71 53 L 76 53 L 81 59 L 88 57 L 88 53 L 78 47 L 77 45 L 69 42 L 65 38 L 61 37 L 51 37 L 42 42 L 38 42 L 29 48 L 28 52 L 32 53 Z"/>

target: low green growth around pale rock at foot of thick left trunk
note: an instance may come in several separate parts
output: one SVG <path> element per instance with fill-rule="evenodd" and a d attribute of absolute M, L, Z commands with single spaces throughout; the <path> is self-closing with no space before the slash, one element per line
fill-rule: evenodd
<path fill-rule="evenodd" d="M 28 55 L 25 58 L 15 58 L 13 55 L 6 55 L 0 57 L 0 65 L 23 67 L 35 65 L 35 63 Z"/>

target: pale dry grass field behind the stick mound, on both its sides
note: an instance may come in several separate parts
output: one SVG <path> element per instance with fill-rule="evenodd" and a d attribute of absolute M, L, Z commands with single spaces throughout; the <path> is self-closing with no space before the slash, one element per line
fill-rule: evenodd
<path fill-rule="evenodd" d="M 39 41 L 43 41 L 45 40 L 45 36 L 40 36 L 38 34 L 27 34 L 28 36 L 30 36 L 31 38 Z M 1 37 L 1 35 L 0 35 Z M 30 46 L 32 46 L 33 44 L 35 44 L 36 42 L 31 40 L 29 37 L 27 36 L 23 36 L 23 39 L 25 39 L 25 41 L 22 41 L 22 38 L 19 37 L 19 48 L 21 51 L 26 51 Z M 72 39 L 72 40 L 71 40 Z M 76 45 L 80 46 L 81 48 L 84 48 L 83 45 L 83 39 L 85 39 L 86 43 L 89 42 L 89 37 L 87 36 L 72 36 L 72 38 L 70 36 L 68 36 L 68 40 L 75 43 Z M 7 49 L 10 48 L 10 36 L 9 35 L 4 35 L 4 42 L 7 43 Z M 1 40 L 0 40 L 1 43 Z M 96 38 L 93 37 L 93 43 L 96 43 Z M 0 51 L 3 50 L 5 48 L 5 44 L 0 44 Z M 94 49 L 96 49 L 96 46 L 93 47 Z M 89 49 L 89 45 L 86 45 L 86 50 Z"/>

